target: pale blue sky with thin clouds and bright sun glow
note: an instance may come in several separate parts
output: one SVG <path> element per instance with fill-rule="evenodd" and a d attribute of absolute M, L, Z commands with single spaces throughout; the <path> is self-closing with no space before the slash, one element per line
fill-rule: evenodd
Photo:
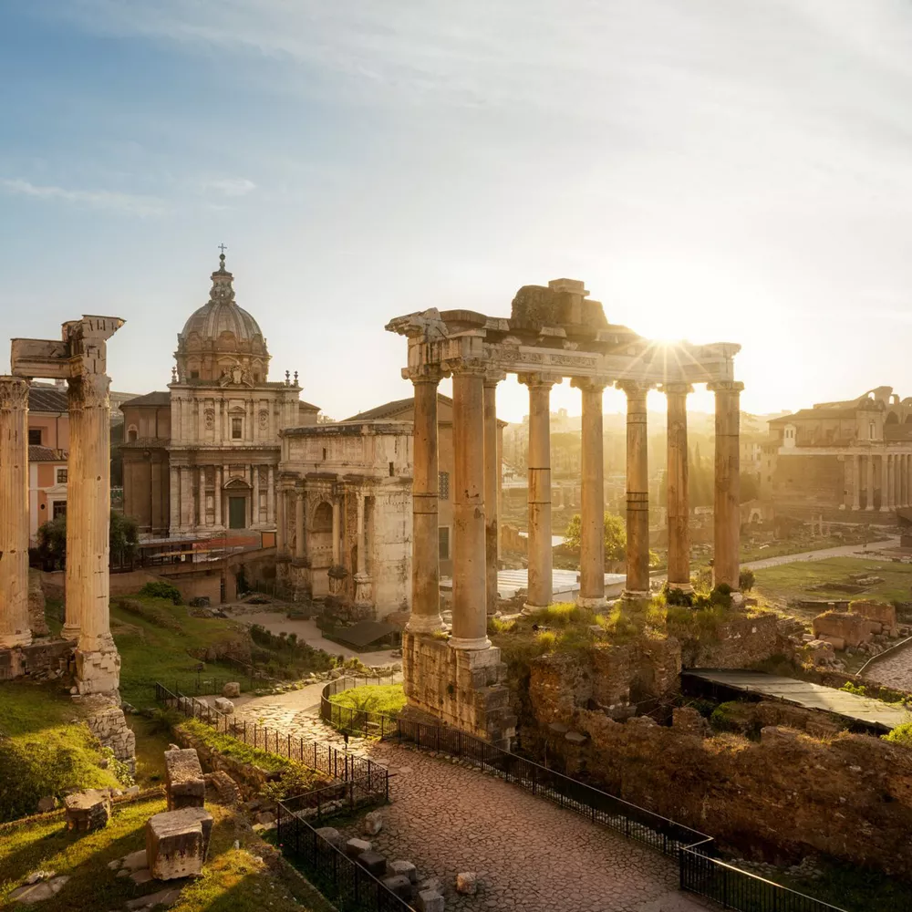
<path fill-rule="evenodd" d="M 120 316 L 113 388 L 165 389 L 224 243 L 336 419 L 409 395 L 389 318 L 563 276 L 740 343 L 751 412 L 912 395 L 909 47 L 907 0 L 7 0 L 0 314 Z"/>

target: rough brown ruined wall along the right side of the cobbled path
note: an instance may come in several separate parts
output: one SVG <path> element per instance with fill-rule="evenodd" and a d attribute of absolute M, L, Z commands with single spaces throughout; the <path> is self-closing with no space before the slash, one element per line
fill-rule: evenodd
<path fill-rule="evenodd" d="M 702 738 L 692 720 L 663 727 L 577 710 L 582 746 L 549 735 L 567 772 L 767 860 L 823 853 L 908 876 L 912 751 L 867 735 L 814 738 L 769 726 L 761 741 Z"/>

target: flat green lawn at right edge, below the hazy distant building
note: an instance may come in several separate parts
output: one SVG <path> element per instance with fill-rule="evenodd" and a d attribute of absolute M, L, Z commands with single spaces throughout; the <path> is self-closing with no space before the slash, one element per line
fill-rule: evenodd
<path fill-rule="evenodd" d="M 825 584 L 848 583 L 850 574 L 870 573 L 882 576 L 877 583 L 857 594 L 847 594 Z M 876 598 L 882 601 L 907 602 L 912 599 L 912 565 L 892 561 L 855 557 L 830 557 L 823 561 L 803 561 L 755 570 L 754 589 L 772 601 L 790 602 L 799 599 Z M 814 589 L 812 586 L 822 588 Z M 796 609 L 803 617 L 814 617 L 814 609 Z"/>

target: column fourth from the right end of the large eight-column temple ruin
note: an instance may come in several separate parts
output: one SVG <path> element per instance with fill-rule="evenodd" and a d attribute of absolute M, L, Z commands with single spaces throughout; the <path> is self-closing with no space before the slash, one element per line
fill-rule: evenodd
<path fill-rule="evenodd" d="M 605 462 L 602 393 L 607 381 L 575 378 L 571 386 L 582 393 L 582 528 L 579 554 L 579 596 L 588 608 L 605 605 Z"/>

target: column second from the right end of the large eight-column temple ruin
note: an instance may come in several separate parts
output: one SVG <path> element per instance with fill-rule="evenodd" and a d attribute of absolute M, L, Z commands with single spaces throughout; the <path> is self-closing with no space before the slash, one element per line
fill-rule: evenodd
<path fill-rule="evenodd" d="M 687 383 L 665 384 L 668 398 L 668 586 L 691 592 Z"/>

